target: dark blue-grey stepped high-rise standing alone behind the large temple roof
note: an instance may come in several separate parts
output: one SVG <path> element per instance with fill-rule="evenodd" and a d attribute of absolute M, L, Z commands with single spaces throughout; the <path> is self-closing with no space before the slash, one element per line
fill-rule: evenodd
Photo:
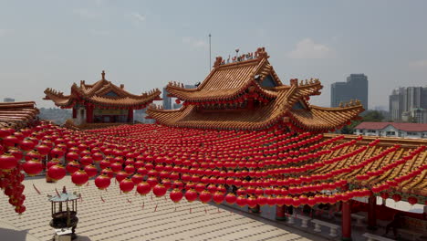
<path fill-rule="evenodd" d="M 351 74 L 347 82 L 331 85 L 330 106 L 338 107 L 340 102 L 360 100 L 363 108 L 368 110 L 368 77 L 364 74 Z"/>

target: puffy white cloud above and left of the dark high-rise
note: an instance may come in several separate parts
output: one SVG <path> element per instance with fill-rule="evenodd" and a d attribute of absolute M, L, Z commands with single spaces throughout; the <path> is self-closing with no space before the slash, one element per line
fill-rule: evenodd
<path fill-rule="evenodd" d="M 289 58 L 330 58 L 334 51 L 325 45 L 316 44 L 311 38 L 304 38 L 287 56 Z"/>

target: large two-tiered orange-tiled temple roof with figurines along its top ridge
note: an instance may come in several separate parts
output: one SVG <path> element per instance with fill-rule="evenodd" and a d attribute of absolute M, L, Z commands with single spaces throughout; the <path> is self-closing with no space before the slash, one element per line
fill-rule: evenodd
<path fill-rule="evenodd" d="M 147 113 L 172 127 L 260 130 L 286 124 L 296 131 L 324 132 L 339 129 L 364 110 L 358 100 L 339 108 L 311 105 L 310 96 L 319 95 L 323 88 L 318 79 L 282 84 L 268 58 L 264 47 L 231 63 L 218 57 L 196 89 L 169 83 L 170 95 L 183 101 L 180 110 L 153 106 Z"/>

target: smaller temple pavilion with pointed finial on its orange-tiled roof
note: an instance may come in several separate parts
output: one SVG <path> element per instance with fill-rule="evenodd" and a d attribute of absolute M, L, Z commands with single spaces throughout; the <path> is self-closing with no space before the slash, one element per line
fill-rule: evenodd
<path fill-rule="evenodd" d="M 101 76 L 102 79 L 94 84 L 87 84 L 85 80 L 81 80 L 79 86 L 74 83 L 67 96 L 57 90 L 46 89 L 44 100 L 54 101 L 61 109 L 72 109 L 72 120 L 66 124 L 80 129 L 132 123 L 133 110 L 144 109 L 153 100 L 161 100 L 159 89 L 134 95 L 126 91 L 124 85 L 118 87 L 105 79 L 104 71 Z"/>

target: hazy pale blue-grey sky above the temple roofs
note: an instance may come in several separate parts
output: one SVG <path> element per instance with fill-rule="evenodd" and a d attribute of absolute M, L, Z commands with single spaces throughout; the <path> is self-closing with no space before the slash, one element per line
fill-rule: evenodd
<path fill-rule="evenodd" d="M 213 59 L 266 47 L 282 82 L 318 78 L 314 104 L 350 73 L 370 82 L 370 108 L 391 90 L 427 85 L 427 1 L 0 0 L 0 100 L 106 79 L 132 93 L 202 81 Z"/>

